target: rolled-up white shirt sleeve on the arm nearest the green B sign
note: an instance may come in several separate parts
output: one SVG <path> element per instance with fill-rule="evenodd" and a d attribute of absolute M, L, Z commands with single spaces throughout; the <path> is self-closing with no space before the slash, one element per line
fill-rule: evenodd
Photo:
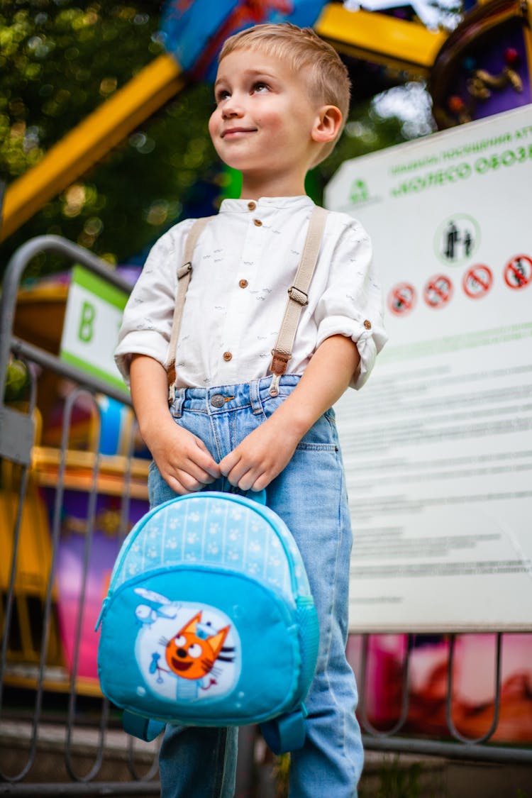
<path fill-rule="evenodd" d="M 164 365 L 175 306 L 177 269 L 183 234 L 190 221 L 167 231 L 152 247 L 124 309 L 114 358 L 126 385 L 133 354 L 145 354 Z"/>

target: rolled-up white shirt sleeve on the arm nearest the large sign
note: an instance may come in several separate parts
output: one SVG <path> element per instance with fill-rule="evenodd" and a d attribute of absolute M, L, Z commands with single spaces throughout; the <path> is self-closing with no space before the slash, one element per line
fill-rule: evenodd
<path fill-rule="evenodd" d="M 329 279 L 317 302 L 317 346 L 332 335 L 345 335 L 357 345 L 360 364 L 351 387 L 367 381 L 388 336 L 380 281 L 372 263 L 368 234 L 356 219 L 344 218 L 344 230 L 329 254 Z"/>

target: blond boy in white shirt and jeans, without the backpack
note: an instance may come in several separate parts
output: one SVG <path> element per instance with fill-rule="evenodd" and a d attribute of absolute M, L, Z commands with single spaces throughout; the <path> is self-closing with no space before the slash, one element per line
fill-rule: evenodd
<path fill-rule="evenodd" d="M 320 654 L 290 796 L 352 798 L 363 753 L 345 658 L 351 531 L 330 408 L 348 385 L 365 382 L 386 337 L 371 245 L 348 215 L 328 215 L 287 373 L 277 383 L 270 369 L 314 207 L 305 174 L 341 133 L 349 78 L 312 30 L 255 26 L 223 46 L 215 100 L 209 132 L 222 160 L 242 172 L 242 195 L 224 200 L 195 247 L 170 412 L 164 364 L 191 220 L 153 247 L 116 360 L 154 460 L 152 505 L 206 486 L 266 488 L 292 531 L 317 606 Z M 228 798 L 235 759 L 236 729 L 168 727 L 164 798 Z"/>

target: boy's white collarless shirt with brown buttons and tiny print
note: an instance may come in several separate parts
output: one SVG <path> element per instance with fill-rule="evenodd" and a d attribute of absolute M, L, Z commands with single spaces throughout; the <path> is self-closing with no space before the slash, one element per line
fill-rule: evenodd
<path fill-rule="evenodd" d="M 307 196 L 225 199 L 199 238 L 176 350 L 178 388 L 235 385 L 270 374 L 314 203 Z M 194 219 L 156 242 L 124 310 L 116 364 L 128 382 L 132 354 L 167 361 L 184 241 Z M 316 271 L 286 373 L 305 371 L 325 338 L 357 344 L 361 388 L 387 340 L 372 247 L 361 224 L 327 215 Z"/>

